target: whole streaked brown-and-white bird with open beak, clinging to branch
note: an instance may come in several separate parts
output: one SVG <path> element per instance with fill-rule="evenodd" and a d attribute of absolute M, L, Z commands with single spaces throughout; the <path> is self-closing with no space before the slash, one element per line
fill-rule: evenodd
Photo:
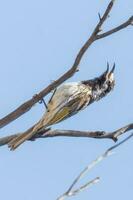
<path fill-rule="evenodd" d="M 31 129 L 12 139 L 8 143 L 10 150 L 15 150 L 26 140 L 33 138 L 41 129 L 59 123 L 105 97 L 115 85 L 115 63 L 111 70 L 109 68 L 107 63 L 106 71 L 96 78 L 68 82 L 57 87 L 42 118 Z"/>

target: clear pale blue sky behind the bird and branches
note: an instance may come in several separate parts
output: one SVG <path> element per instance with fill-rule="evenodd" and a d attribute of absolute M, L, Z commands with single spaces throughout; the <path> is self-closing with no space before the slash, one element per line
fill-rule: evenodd
<path fill-rule="evenodd" d="M 90 3 L 91 2 L 91 3 Z M 109 1 L 5 0 L 0 2 L 0 117 L 69 69 Z M 133 14 L 132 0 L 118 0 L 104 30 Z M 116 62 L 116 87 L 108 97 L 53 128 L 112 131 L 133 121 L 133 28 L 94 43 L 80 72 L 69 81 L 98 76 Z M 46 98 L 46 100 L 48 97 Z M 0 130 L 22 132 L 40 119 L 43 105 Z M 109 140 L 52 138 L 26 142 L 15 152 L 0 149 L 1 199 L 56 199 L 77 174 L 113 144 Z M 101 182 L 72 199 L 131 199 L 132 139 L 86 177 Z M 84 180 L 84 181 L 85 181 Z"/>

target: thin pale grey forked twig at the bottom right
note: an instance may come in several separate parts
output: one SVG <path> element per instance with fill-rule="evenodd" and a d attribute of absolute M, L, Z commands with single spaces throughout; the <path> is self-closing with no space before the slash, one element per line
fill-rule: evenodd
<path fill-rule="evenodd" d="M 91 169 L 93 169 L 99 162 L 107 158 L 108 156 L 112 155 L 112 150 L 116 149 L 121 144 L 125 143 L 127 140 L 129 140 L 131 137 L 133 137 L 133 133 L 131 133 L 126 139 L 122 140 L 116 145 L 113 145 L 109 149 L 107 149 L 102 155 L 98 156 L 94 161 L 92 161 L 83 171 L 80 172 L 80 174 L 76 177 L 76 179 L 73 181 L 69 189 L 60 197 L 57 198 L 57 200 L 64 200 L 67 197 L 73 196 L 78 194 L 79 192 L 87 189 L 89 186 L 94 185 L 95 183 L 99 182 L 100 178 L 96 177 L 95 179 L 87 182 L 86 184 L 80 186 L 78 189 L 73 190 L 75 185 L 88 173 Z"/>

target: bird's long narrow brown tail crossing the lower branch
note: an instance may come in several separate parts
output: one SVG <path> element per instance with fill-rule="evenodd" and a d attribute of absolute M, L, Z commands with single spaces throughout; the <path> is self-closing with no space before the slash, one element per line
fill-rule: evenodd
<path fill-rule="evenodd" d="M 8 147 L 10 148 L 10 150 L 15 150 L 23 142 L 32 138 L 37 133 L 37 131 L 40 130 L 40 128 L 42 128 L 41 121 L 39 121 L 32 128 L 28 129 L 24 133 L 20 134 L 19 136 L 16 136 L 14 139 L 12 139 L 8 143 Z M 45 126 L 43 126 L 43 128 L 45 128 Z"/>

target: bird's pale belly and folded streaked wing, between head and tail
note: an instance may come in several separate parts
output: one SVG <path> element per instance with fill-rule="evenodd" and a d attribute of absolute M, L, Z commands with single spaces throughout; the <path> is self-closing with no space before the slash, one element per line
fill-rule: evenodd
<path fill-rule="evenodd" d="M 82 84 L 66 84 L 56 90 L 50 102 L 48 111 L 43 116 L 42 124 L 50 126 L 58 123 L 84 109 L 89 101 L 90 91 Z"/>

